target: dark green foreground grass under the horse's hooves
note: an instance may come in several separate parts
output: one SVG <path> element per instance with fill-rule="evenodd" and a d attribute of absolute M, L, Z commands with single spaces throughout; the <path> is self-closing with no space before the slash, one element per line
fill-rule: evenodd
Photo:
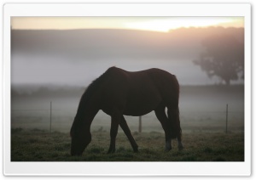
<path fill-rule="evenodd" d="M 184 149 L 165 152 L 161 132 L 133 132 L 139 145 L 134 153 L 125 134 L 119 131 L 116 153 L 108 155 L 109 132 L 91 132 L 92 141 L 82 156 L 71 156 L 66 132 L 46 132 L 15 128 L 11 131 L 12 161 L 243 161 L 244 135 L 241 132 L 183 133 Z"/>

